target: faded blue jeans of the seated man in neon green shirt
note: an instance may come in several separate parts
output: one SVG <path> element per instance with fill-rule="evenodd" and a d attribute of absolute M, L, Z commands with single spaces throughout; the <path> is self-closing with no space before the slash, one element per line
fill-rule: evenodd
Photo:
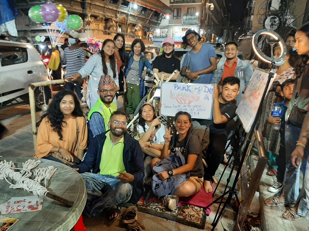
<path fill-rule="evenodd" d="M 85 172 L 81 174 L 85 181 L 87 202 L 84 213 L 94 217 L 102 213 L 103 209 L 119 205 L 130 200 L 132 185 L 122 183 L 116 176 L 100 175 Z"/>

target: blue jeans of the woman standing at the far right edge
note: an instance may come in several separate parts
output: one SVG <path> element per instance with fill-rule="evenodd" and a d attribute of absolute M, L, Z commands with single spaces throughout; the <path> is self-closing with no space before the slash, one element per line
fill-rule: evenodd
<path fill-rule="evenodd" d="M 286 143 L 286 172 L 283 180 L 283 199 L 282 204 L 293 205 L 299 201 L 298 215 L 305 216 L 307 212 L 306 193 L 303 188 L 299 191 L 299 173 L 303 168 L 303 164 L 307 162 L 308 158 L 308 145 L 304 151 L 304 157 L 301 161 L 301 166 L 295 168 L 291 163 L 291 154 L 296 147 L 296 141 L 300 135 L 300 128 L 292 125 L 286 125 L 285 130 L 285 143 Z"/>

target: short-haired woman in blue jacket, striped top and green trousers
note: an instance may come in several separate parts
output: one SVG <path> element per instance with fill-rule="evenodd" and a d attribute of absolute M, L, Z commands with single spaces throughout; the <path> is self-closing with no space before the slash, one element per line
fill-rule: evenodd
<path fill-rule="evenodd" d="M 125 68 L 124 89 L 128 89 L 127 111 L 130 118 L 133 119 L 134 111 L 146 94 L 144 78 L 152 70 L 152 66 L 148 59 L 142 55 L 142 52 L 145 51 L 145 45 L 141 39 L 134 39 L 131 45 L 131 51 Z M 148 69 L 144 70 L 145 66 Z"/>

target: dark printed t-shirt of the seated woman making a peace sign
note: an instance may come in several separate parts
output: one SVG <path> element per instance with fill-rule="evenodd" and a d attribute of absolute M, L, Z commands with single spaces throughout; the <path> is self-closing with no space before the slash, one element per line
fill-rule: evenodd
<path fill-rule="evenodd" d="M 175 147 L 173 147 L 174 142 L 176 143 Z M 197 155 L 197 160 L 195 161 L 193 169 L 190 171 L 190 176 L 197 176 L 198 178 L 202 178 L 204 176 L 201 143 L 199 142 L 198 138 L 192 133 L 188 136 L 188 139 L 185 138 L 179 142 L 178 134 L 176 135 L 176 137 L 172 136 L 168 150 L 171 150 L 171 152 L 180 151 L 184 156 L 186 163 L 188 155 Z"/>

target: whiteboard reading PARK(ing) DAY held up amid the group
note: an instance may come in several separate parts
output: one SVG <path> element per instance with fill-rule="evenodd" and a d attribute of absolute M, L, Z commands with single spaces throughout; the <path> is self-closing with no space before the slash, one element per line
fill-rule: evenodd
<path fill-rule="evenodd" d="M 186 111 L 192 118 L 211 120 L 213 91 L 214 84 L 163 82 L 160 114 L 175 116 Z"/>

